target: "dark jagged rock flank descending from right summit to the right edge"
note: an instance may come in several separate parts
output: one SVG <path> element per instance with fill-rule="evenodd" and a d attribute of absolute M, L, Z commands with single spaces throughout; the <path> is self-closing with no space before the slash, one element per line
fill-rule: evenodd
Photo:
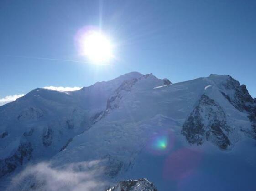
<path fill-rule="evenodd" d="M 229 77 L 223 87 L 227 90 L 233 90 L 232 95 L 227 95 L 225 92 L 221 92 L 222 95 L 239 111 L 248 112 L 248 118 L 251 121 L 252 137 L 256 139 L 256 99 L 252 98 L 246 89 L 246 85 L 240 85 L 240 83 Z"/>

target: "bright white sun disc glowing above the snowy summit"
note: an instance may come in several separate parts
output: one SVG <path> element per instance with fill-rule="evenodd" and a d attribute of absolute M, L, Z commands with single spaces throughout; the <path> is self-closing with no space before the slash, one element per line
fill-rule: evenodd
<path fill-rule="evenodd" d="M 89 31 L 80 39 L 82 54 L 94 64 L 109 62 L 113 57 L 113 45 L 109 38 L 98 31 Z"/>

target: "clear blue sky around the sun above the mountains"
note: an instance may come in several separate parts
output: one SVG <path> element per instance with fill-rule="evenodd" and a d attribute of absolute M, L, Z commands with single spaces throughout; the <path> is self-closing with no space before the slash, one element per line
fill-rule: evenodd
<path fill-rule="evenodd" d="M 77 32 L 115 42 L 109 65 L 78 55 Z M 0 98 L 88 86 L 138 71 L 172 82 L 230 74 L 256 96 L 255 0 L 0 0 Z"/>

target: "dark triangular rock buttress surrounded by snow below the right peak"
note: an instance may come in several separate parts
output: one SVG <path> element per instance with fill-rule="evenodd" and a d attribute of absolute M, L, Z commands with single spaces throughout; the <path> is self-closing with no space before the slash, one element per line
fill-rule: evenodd
<path fill-rule="evenodd" d="M 221 106 L 203 94 L 183 124 L 181 133 L 190 144 L 201 145 L 207 140 L 220 149 L 227 149 L 231 145 L 227 136 L 229 131 Z"/>

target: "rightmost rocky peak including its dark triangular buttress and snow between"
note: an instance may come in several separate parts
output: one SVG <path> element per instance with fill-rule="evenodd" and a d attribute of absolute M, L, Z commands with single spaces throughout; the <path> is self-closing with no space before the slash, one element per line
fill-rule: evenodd
<path fill-rule="evenodd" d="M 245 85 L 230 76 L 211 75 L 205 80 L 210 85 L 183 124 L 187 141 L 202 144 L 207 140 L 220 149 L 230 149 L 240 139 L 239 131 L 255 137 L 256 102 Z"/>

